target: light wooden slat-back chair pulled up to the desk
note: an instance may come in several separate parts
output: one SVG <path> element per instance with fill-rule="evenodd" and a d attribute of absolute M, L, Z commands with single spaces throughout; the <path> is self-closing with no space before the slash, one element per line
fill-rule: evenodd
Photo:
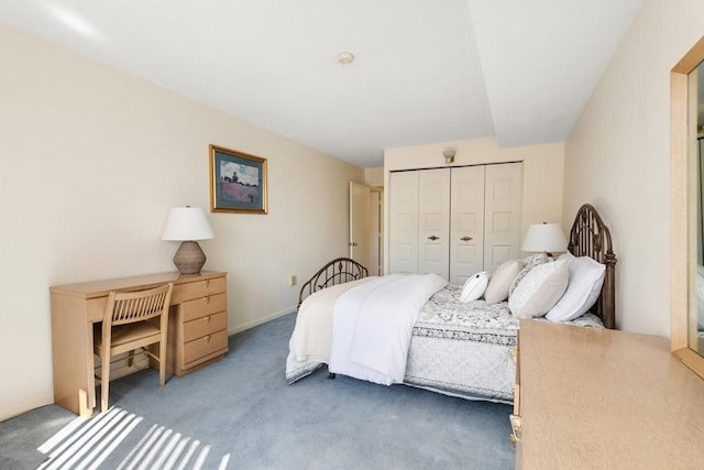
<path fill-rule="evenodd" d="M 110 359 L 117 354 L 143 349 L 158 362 L 158 384 L 166 381 L 166 334 L 168 305 L 174 284 L 138 292 L 111 292 L 102 317 L 102 327 L 96 327 L 94 352 L 100 357 L 100 411 L 108 409 L 110 387 Z M 151 345 L 158 342 L 158 356 Z"/>

